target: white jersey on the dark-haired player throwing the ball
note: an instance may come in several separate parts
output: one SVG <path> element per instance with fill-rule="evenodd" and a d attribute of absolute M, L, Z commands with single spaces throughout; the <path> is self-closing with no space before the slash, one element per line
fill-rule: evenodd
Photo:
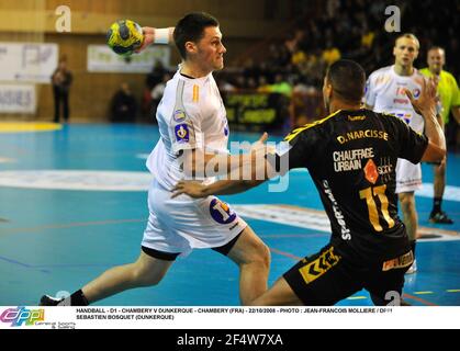
<path fill-rule="evenodd" d="M 146 166 L 166 190 L 183 179 L 180 150 L 200 148 L 206 154 L 228 154 L 225 106 L 212 73 L 192 79 L 178 70 L 166 84 L 156 116 L 160 139 Z"/>

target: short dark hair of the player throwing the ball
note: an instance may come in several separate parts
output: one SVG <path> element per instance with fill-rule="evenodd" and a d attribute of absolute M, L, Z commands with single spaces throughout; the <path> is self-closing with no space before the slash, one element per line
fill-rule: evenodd
<path fill-rule="evenodd" d="M 209 26 L 218 26 L 218 21 L 205 12 L 192 12 L 186 14 L 176 24 L 173 37 L 180 56 L 187 59 L 187 42 L 199 42 L 204 36 L 204 30 Z"/>

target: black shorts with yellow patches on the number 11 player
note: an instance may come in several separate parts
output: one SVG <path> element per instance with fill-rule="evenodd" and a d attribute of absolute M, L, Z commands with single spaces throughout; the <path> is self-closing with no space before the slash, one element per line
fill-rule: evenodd
<path fill-rule="evenodd" d="M 412 251 L 381 263 L 355 263 L 332 245 L 305 257 L 284 273 L 295 295 L 307 306 L 330 306 L 366 288 L 375 305 L 399 305 Z"/>

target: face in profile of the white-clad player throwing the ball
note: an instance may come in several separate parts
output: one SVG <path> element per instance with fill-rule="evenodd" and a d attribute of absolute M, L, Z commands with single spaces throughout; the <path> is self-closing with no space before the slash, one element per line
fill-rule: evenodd
<path fill-rule="evenodd" d="M 204 36 L 197 43 L 197 58 L 210 71 L 224 68 L 224 54 L 227 52 L 222 44 L 218 26 L 209 26 Z"/>

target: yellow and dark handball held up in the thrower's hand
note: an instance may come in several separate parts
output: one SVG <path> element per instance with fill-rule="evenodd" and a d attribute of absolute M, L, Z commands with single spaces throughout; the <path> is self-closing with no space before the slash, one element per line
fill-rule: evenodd
<path fill-rule="evenodd" d="M 106 44 L 119 55 L 133 54 L 144 41 L 141 25 L 131 20 L 113 23 L 106 33 Z"/>

